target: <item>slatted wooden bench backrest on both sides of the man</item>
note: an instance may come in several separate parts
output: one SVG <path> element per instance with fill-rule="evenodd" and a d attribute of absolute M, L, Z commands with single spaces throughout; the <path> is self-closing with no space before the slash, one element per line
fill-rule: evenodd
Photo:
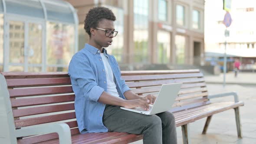
<path fill-rule="evenodd" d="M 66 72 L 1 72 L 8 86 L 15 128 L 65 122 L 79 134 L 75 120 L 71 81 Z M 122 71 L 122 79 L 138 95 L 156 94 L 162 84 L 183 82 L 172 111 L 209 103 L 203 74 L 199 70 Z M 20 144 L 58 137 L 46 134 L 20 139 Z"/>

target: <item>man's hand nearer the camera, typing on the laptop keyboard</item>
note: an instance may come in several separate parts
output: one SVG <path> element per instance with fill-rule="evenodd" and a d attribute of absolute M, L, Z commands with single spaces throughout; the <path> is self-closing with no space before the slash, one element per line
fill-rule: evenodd
<path fill-rule="evenodd" d="M 147 98 L 139 98 L 139 99 L 133 99 L 133 100 L 126 100 L 124 101 L 123 107 L 125 108 L 136 108 L 141 107 L 145 111 L 148 111 L 149 105 L 148 105 L 148 99 Z"/>

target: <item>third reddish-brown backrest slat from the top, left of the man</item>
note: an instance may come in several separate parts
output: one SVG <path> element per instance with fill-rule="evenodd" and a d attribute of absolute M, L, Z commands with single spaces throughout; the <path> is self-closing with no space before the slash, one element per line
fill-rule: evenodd
<path fill-rule="evenodd" d="M 72 86 L 9 89 L 10 98 L 73 93 Z"/>

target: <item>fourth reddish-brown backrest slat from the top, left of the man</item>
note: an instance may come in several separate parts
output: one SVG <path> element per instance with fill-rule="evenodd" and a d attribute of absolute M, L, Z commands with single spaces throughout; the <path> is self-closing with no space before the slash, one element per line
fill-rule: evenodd
<path fill-rule="evenodd" d="M 11 99 L 12 108 L 32 105 L 45 105 L 61 102 L 75 101 L 75 95 L 46 96 L 40 98 Z"/>

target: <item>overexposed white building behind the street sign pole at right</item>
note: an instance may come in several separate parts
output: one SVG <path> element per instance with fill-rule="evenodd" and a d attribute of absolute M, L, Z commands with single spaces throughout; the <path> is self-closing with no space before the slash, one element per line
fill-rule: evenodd
<path fill-rule="evenodd" d="M 227 69 L 233 70 L 233 62 L 240 59 L 242 71 L 256 69 L 256 0 L 232 0 L 232 23 L 225 38 L 222 10 L 223 0 L 205 0 L 205 51 L 206 64 L 220 65 L 223 69 L 225 39 L 227 41 Z"/>

